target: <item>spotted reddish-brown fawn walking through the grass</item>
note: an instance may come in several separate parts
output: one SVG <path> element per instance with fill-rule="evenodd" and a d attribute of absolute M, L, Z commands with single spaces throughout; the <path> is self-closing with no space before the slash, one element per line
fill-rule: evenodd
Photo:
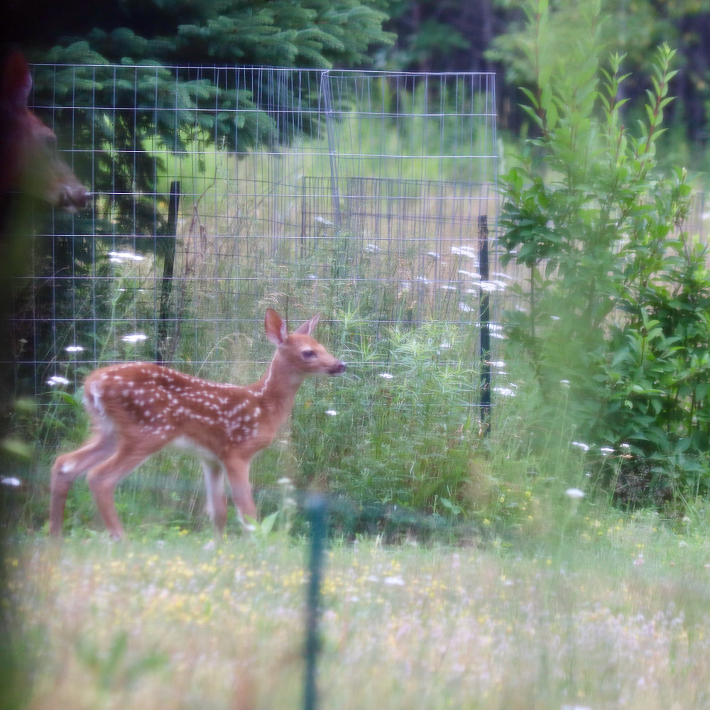
<path fill-rule="evenodd" d="M 207 508 L 218 534 L 226 523 L 224 476 L 241 515 L 256 519 L 249 463 L 271 444 L 293 409 L 296 392 L 310 375 L 338 375 L 345 365 L 311 337 L 318 316 L 289 334 L 268 308 L 266 337 L 276 352 L 266 374 L 239 387 L 214 383 L 151 363 L 94 370 L 84 383 L 84 405 L 93 435 L 52 467 L 50 533 L 60 535 L 72 483 L 87 474 L 89 488 L 111 536 L 123 528 L 116 515 L 116 484 L 168 444 L 202 461 Z"/>

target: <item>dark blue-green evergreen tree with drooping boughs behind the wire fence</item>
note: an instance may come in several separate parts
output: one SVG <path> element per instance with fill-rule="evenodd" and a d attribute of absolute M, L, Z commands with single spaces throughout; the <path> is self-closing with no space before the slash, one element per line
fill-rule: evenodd
<path fill-rule="evenodd" d="M 48 337 L 62 301 L 81 297 L 85 275 L 102 268 L 95 259 L 96 237 L 136 235 L 160 256 L 171 248 L 167 209 L 156 197 L 165 170 L 159 154 L 192 151 L 219 143 L 249 151 L 263 143 L 293 140 L 307 123 L 310 102 L 295 104 L 288 84 L 280 87 L 283 111 L 276 121 L 273 89 L 257 71 L 214 82 L 216 73 L 195 67 L 354 67 L 371 62 L 371 49 L 391 43 L 383 30 L 388 0 L 6 0 L 0 9 L 0 44 L 18 45 L 35 62 L 33 103 L 67 107 L 53 114 L 60 146 L 72 145 L 72 167 L 92 176 L 100 195 L 92 219 L 64 224 L 55 214 L 54 239 L 35 239 L 36 287 L 26 295 L 31 332 L 18 332 L 35 361 L 53 358 Z M 175 68 L 178 67 L 178 68 Z M 188 68 L 190 67 L 190 68 Z M 227 72 L 222 72 L 222 78 Z M 294 89 L 297 91 L 298 89 Z M 239 112 L 234 109 L 249 109 Z M 41 113 L 41 112 L 40 112 Z M 82 150 L 83 149 L 83 150 Z M 65 234 L 87 234 L 87 239 Z M 173 231 L 174 234 L 174 231 Z M 45 255 L 43 256 L 43 252 Z M 167 252 L 166 252 L 167 253 Z M 29 266 L 29 265 L 28 265 Z M 56 275 L 73 278 L 55 279 Z M 87 290 L 87 293 L 89 291 Z M 93 292 L 92 292 L 93 293 Z M 87 296 L 88 297 L 88 296 Z M 21 301 L 21 300 L 20 300 Z M 109 299 L 94 298 L 97 309 Z M 161 306 L 162 310 L 162 306 Z M 97 312 L 110 320 L 109 312 Z M 47 333 L 44 332 L 46 325 Z M 75 324 L 80 328 L 81 324 Z M 33 373 L 28 373 L 32 376 Z M 18 378 L 23 374 L 18 373 Z"/>

